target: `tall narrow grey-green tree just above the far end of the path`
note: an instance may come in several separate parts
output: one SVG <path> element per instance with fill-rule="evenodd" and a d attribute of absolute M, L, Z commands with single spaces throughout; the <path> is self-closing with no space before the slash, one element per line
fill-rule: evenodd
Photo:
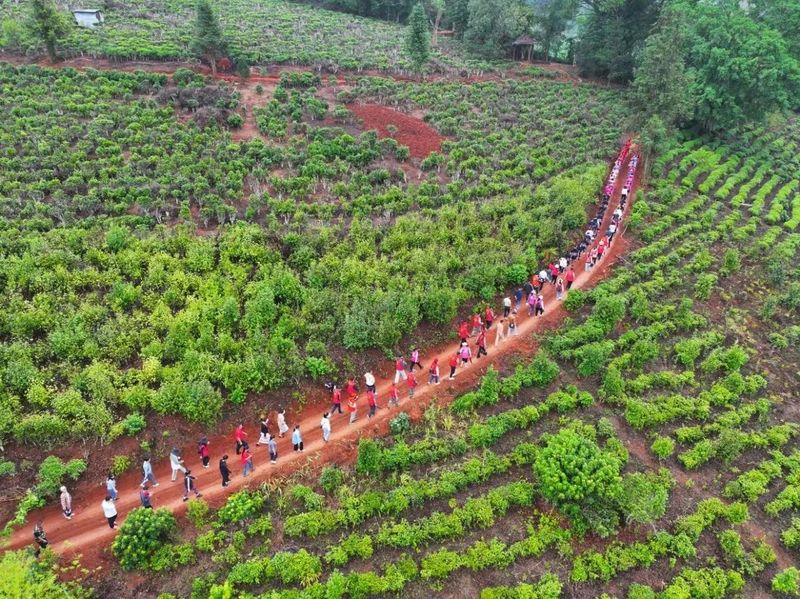
<path fill-rule="evenodd" d="M 636 129 L 641 130 L 653 116 L 658 116 L 667 130 L 692 118 L 693 78 L 684 60 L 689 29 L 682 3 L 670 2 L 663 7 L 639 57 L 628 95 Z"/>

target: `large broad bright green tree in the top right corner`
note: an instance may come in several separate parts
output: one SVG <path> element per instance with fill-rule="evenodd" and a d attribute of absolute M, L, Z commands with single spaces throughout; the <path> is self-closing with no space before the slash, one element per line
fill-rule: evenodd
<path fill-rule="evenodd" d="M 714 131 L 789 108 L 800 91 L 800 66 L 783 37 L 733 0 L 691 9 L 687 65 L 695 120 Z"/>

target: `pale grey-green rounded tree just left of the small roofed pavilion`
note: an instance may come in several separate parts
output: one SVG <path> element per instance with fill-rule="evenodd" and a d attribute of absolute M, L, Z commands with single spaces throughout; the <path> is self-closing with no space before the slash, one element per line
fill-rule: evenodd
<path fill-rule="evenodd" d="M 469 0 L 464 41 L 490 58 L 504 56 L 511 42 L 530 25 L 530 11 L 516 0 Z"/>

